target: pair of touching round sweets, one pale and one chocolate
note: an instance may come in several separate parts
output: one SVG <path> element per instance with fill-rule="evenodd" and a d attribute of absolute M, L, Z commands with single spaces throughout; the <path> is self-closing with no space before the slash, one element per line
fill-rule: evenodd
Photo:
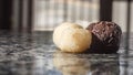
<path fill-rule="evenodd" d="M 91 23 L 86 29 L 65 22 L 53 31 L 53 42 L 64 52 L 115 53 L 121 34 L 121 28 L 113 22 Z"/>

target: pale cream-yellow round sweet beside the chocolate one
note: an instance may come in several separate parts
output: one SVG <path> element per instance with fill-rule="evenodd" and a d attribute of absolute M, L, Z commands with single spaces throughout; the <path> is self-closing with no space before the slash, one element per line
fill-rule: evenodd
<path fill-rule="evenodd" d="M 53 31 L 54 44 L 64 52 L 84 52 L 91 39 L 91 32 L 75 23 L 62 23 Z"/>

